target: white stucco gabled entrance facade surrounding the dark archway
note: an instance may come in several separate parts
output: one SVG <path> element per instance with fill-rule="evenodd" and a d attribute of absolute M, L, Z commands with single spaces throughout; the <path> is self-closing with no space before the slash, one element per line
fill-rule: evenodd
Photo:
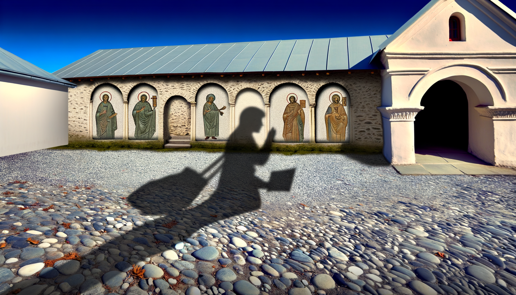
<path fill-rule="evenodd" d="M 462 20 L 462 41 L 449 41 L 452 15 Z M 421 99 L 434 83 L 452 80 L 468 100 L 469 152 L 491 164 L 516 166 L 516 145 L 508 144 L 516 133 L 512 119 L 497 123 L 498 114 L 480 116 L 475 109 L 490 105 L 513 108 L 513 115 L 503 116 L 516 114 L 516 21 L 506 16 L 491 2 L 440 1 L 386 46 L 382 115 L 389 161 L 414 163 L 413 120 Z"/>

